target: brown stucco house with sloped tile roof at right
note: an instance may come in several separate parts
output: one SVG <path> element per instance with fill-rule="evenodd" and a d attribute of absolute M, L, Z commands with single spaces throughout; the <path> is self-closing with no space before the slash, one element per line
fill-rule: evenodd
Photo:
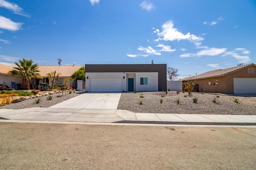
<path fill-rule="evenodd" d="M 218 69 L 197 76 L 183 78 L 182 84 L 192 82 L 200 92 L 227 94 L 256 94 L 256 64 Z"/>

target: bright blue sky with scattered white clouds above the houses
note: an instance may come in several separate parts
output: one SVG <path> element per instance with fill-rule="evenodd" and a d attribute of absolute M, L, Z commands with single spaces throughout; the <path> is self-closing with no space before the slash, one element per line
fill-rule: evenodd
<path fill-rule="evenodd" d="M 0 0 L 0 63 L 167 64 L 180 78 L 256 63 L 255 0 Z"/>

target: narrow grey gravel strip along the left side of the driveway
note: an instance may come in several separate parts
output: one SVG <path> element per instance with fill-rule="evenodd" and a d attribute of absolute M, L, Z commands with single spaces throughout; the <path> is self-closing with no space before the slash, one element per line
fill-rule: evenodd
<path fill-rule="evenodd" d="M 60 102 L 64 102 L 65 100 L 74 98 L 79 95 L 80 94 L 73 93 L 73 92 L 72 94 L 67 94 L 66 96 L 65 94 L 64 96 L 62 96 L 62 93 L 50 94 L 48 96 L 53 96 L 52 100 L 47 100 L 48 96 L 41 96 L 39 97 L 41 100 L 38 104 L 36 104 L 36 100 L 38 100 L 38 98 L 34 98 L 34 99 L 24 100 L 22 102 L 2 106 L 0 107 L 0 109 L 26 109 L 31 107 L 51 107 L 53 105 L 56 105 Z M 60 97 L 57 97 L 57 96 L 60 96 Z"/>

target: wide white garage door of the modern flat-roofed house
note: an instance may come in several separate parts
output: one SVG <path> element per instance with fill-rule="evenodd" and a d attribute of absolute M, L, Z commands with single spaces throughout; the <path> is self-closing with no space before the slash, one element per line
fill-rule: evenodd
<path fill-rule="evenodd" d="M 91 92 L 121 92 L 121 78 L 91 78 Z"/>

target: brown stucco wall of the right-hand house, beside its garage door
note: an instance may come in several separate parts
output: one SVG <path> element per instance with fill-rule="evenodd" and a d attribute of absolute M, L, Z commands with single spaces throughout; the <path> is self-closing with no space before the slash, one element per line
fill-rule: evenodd
<path fill-rule="evenodd" d="M 254 68 L 254 73 L 248 73 L 248 68 Z M 226 76 L 196 80 L 195 84 L 198 84 L 198 88 L 204 92 L 233 94 L 234 78 L 256 78 L 256 67 L 250 66 L 248 68 L 244 68 Z M 216 85 L 216 80 L 218 80 L 218 85 Z M 209 81 L 211 81 L 212 85 L 208 85 Z M 183 82 L 183 84 L 184 83 L 185 82 Z M 184 87 L 183 90 L 185 90 Z"/>

